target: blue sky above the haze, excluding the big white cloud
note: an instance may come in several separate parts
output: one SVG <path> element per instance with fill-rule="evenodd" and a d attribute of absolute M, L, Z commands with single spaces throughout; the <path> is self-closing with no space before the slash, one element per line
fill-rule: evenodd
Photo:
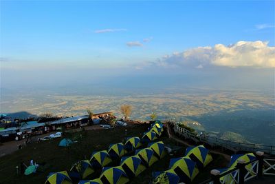
<path fill-rule="evenodd" d="M 166 55 L 239 41 L 269 41 L 263 47 L 274 49 L 274 1 L 1 1 L 3 83 L 12 71 L 148 69 Z M 228 62 L 211 65 L 273 65 Z"/>

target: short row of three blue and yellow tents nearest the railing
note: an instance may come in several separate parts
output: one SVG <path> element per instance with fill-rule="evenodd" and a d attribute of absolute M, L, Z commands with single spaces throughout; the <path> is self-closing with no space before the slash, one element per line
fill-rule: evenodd
<path fill-rule="evenodd" d="M 170 159 L 168 170 L 153 172 L 151 183 L 191 183 L 199 170 L 212 160 L 209 150 L 203 145 L 187 147 L 185 156 Z"/>

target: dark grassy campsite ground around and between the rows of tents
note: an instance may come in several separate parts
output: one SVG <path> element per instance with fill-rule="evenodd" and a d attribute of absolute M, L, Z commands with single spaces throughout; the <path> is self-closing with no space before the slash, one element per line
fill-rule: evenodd
<path fill-rule="evenodd" d="M 0 159 L 0 184 L 3 183 L 44 183 L 50 172 L 59 172 L 69 170 L 72 165 L 80 159 L 89 159 L 91 153 L 97 150 L 106 150 L 110 143 L 122 142 L 126 136 L 142 136 L 147 130 L 148 125 L 129 125 L 127 127 L 115 127 L 112 130 L 87 130 L 84 132 L 76 132 L 67 134 L 68 137 L 78 136 L 80 141 L 71 147 L 58 147 L 62 138 L 44 141 L 42 143 L 32 143 L 22 150 L 17 150 L 12 154 L 2 156 Z M 171 146 L 180 146 L 179 151 L 174 156 L 167 155 L 161 161 L 158 161 L 145 172 L 133 178 L 131 183 L 149 183 L 151 180 L 151 172 L 167 170 L 170 158 L 183 156 L 185 146 L 178 145 L 175 141 L 162 136 L 160 140 Z M 195 178 L 194 183 L 203 181 L 208 178 L 210 169 L 214 167 L 222 167 L 226 164 L 223 156 L 215 155 L 216 159 L 201 171 L 199 176 Z M 17 175 L 16 167 L 21 162 L 30 163 L 30 160 L 41 164 L 39 172 L 28 176 Z M 114 163 L 118 164 L 118 163 Z M 114 165 L 111 165 L 114 166 Z M 20 168 L 20 167 L 19 167 Z"/>

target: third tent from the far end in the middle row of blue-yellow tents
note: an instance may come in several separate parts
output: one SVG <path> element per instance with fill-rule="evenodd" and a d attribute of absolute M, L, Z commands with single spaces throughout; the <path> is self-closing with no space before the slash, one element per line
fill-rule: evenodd
<path fill-rule="evenodd" d="M 146 167 L 143 165 L 139 156 L 122 157 L 120 166 L 129 178 L 133 178 L 146 170 Z"/>

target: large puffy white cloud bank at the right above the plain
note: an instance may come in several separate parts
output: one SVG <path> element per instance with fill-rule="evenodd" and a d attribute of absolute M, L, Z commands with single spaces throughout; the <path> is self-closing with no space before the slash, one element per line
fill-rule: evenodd
<path fill-rule="evenodd" d="M 239 41 L 233 45 L 217 44 L 174 52 L 158 59 L 155 65 L 206 68 L 224 67 L 275 68 L 275 47 L 263 41 Z"/>

